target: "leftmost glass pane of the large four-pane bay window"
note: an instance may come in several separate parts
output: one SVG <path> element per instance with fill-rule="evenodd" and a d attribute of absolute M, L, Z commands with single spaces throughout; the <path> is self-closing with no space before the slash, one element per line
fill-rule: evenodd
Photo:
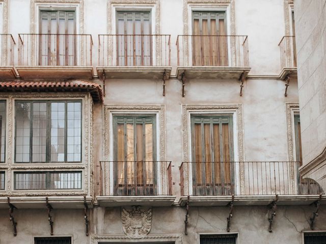
<path fill-rule="evenodd" d="M 30 162 L 31 103 L 16 103 L 16 162 Z"/>

